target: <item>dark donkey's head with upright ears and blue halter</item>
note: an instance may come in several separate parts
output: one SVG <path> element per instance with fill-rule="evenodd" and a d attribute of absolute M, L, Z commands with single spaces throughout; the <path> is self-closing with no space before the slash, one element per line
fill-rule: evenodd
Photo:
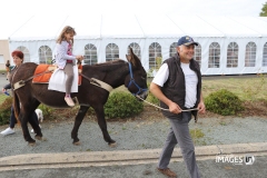
<path fill-rule="evenodd" d="M 136 97 L 146 99 L 148 95 L 147 72 L 131 48 L 130 53 L 126 55 L 126 58 L 129 63 L 129 75 L 125 79 L 125 86 Z"/>

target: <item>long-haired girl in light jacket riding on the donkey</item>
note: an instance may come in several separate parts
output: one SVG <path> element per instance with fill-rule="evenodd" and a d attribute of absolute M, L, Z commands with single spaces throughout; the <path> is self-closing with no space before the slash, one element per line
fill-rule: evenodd
<path fill-rule="evenodd" d="M 66 96 L 65 101 L 68 106 L 73 107 L 75 102 L 70 97 L 70 89 L 73 81 L 73 66 L 75 60 L 82 60 L 82 56 L 72 55 L 72 41 L 76 31 L 72 27 L 66 26 L 57 39 L 57 53 L 56 53 L 56 63 L 59 69 L 63 70 L 67 75 L 66 80 Z"/>

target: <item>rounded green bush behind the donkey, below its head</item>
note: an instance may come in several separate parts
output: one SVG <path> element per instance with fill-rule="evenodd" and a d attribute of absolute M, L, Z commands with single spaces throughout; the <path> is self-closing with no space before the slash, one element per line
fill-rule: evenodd
<path fill-rule="evenodd" d="M 105 113 L 108 118 L 126 118 L 142 111 L 142 102 L 127 92 L 113 92 L 105 105 Z"/>

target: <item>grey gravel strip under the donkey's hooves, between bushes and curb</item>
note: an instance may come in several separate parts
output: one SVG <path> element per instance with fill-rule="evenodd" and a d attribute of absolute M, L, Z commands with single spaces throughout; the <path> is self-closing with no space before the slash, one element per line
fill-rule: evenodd
<path fill-rule="evenodd" d="M 169 131 L 169 122 L 165 118 L 108 121 L 109 134 L 117 141 L 117 147 L 110 148 L 102 139 L 98 123 L 88 118 L 83 120 L 78 132 L 81 141 L 80 146 L 73 146 L 70 138 L 73 120 L 60 122 L 44 121 L 41 126 L 42 134 L 48 140 L 37 140 L 34 147 L 28 146 L 24 141 L 19 126 L 16 126 L 16 134 L 1 136 L 0 157 L 22 154 L 162 148 Z M 1 126 L 0 130 L 7 127 Z M 199 118 L 198 123 L 190 121 L 189 127 L 194 136 L 195 146 L 267 141 L 267 118 Z M 196 135 L 198 137 L 195 137 Z"/>

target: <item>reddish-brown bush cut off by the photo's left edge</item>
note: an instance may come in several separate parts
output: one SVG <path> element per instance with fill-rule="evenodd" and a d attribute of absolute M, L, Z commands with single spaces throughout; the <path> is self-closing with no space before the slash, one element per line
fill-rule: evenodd
<path fill-rule="evenodd" d="M 0 105 L 0 125 L 9 123 L 12 106 L 12 97 L 6 98 L 6 100 Z"/>

